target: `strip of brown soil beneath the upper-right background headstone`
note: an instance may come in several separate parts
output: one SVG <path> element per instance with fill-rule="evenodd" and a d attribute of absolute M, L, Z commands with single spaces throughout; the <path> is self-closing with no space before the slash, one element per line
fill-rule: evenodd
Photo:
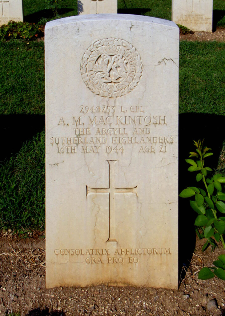
<path fill-rule="evenodd" d="M 212 41 L 216 40 L 218 42 L 225 41 L 225 28 L 217 28 L 215 32 L 193 32 L 193 34 L 180 34 L 180 40 L 190 40 L 190 41 Z"/>

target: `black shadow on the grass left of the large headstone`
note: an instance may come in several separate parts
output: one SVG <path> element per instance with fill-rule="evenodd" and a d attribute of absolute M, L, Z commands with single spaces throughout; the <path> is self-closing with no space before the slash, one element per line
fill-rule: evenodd
<path fill-rule="evenodd" d="M 0 115 L 0 135 L 2 135 L 2 149 L 0 161 L 9 159 L 19 152 L 22 144 L 43 131 L 44 115 L 9 114 Z"/>

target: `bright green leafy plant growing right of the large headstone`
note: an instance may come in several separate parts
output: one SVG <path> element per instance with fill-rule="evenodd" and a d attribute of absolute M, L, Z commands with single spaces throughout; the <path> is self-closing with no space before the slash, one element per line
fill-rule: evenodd
<path fill-rule="evenodd" d="M 196 152 L 190 152 L 186 162 L 190 165 L 187 169 L 190 172 L 197 172 L 196 181 L 203 183 L 202 187 L 189 186 L 184 189 L 180 197 L 194 197 L 190 200 L 190 206 L 198 214 L 195 220 L 196 233 L 200 239 L 205 238 L 206 242 L 202 248 L 205 251 L 208 246 L 212 250 L 217 246 L 217 242 L 221 241 L 225 249 L 223 235 L 225 233 L 225 177 L 216 173 L 212 175 L 212 169 L 205 167 L 205 158 L 213 155 L 209 152 L 211 148 L 203 147 L 203 141 L 194 141 Z M 219 256 L 218 260 L 214 261 L 216 268 L 203 268 L 199 272 L 200 279 L 208 279 L 213 276 L 225 280 L 225 255 Z"/>

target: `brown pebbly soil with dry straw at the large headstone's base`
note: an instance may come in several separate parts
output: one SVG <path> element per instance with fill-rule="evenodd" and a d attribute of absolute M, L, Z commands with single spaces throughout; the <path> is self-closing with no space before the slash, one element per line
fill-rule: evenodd
<path fill-rule="evenodd" d="M 60 315 L 225 315 L 225 282 L 198 280 L 197 271 L 224 253 L 222 247 L 202 254 L 202 241 L 178 290 L 108 287 L 45 289 L 45 241 L 0 235 L 0 316 Z"/>

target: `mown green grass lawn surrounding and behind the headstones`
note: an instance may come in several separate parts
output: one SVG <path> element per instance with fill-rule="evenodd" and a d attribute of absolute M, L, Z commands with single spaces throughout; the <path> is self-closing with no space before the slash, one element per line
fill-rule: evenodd
<path fill-rule="evenodd" d="M 23 2 L 25 20 L 49 18 L 44 1 Z M 63 1 L 60 15 L 76 14 L 76 2 Z M 222 0 L 214 0 L 213 5 L 215 10 L 225 10 Z M 170 19 L 171 1 L 118 0 L 118 11 Z M 224 52 L 225 43 L 180 43 L 179 111 L 180 122 L 186 126 L 182 136 L 186 138 L 181 137 L 180 144 L 185 147 L 186 140 L 192 142 L 193 137 L 203 135 L 205 145 L 212 143 L 216 147 L 217 163 L 224 140 L 224 127 L 219 126 L 224 126 L 225 119 Z M 44 43 L 0 42 L 0 55 L 0 126 L 4 135 L 0 154 L 0 229 L 41 230 L 45 218 Z M 185 148 L 186 153 L 189 151 L 191 148 Z"/>

